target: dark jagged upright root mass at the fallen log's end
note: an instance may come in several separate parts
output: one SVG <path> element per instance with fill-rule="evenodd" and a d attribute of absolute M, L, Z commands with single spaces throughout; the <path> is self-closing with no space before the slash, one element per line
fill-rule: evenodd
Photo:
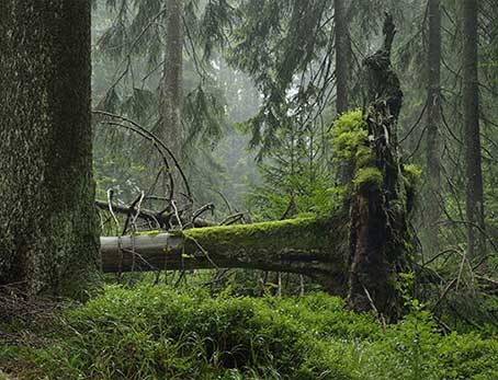
<path fill-rule="evenodd" d="M 384 47 L 364 62 L 370 85 L 367 124 L 373 154 L 369 170 L 382 174 L 382 180 L 358 183 L 356 179 L 350 212 L 348 295 L 354 310 L 376 309 L 391 320 L 400 313 L 396 283 L 404 267 L 407 238 L 407 197 L 396 142 L 403 92 L 391 67 L 395 33 L 392 18 L 387 15 Z"/>

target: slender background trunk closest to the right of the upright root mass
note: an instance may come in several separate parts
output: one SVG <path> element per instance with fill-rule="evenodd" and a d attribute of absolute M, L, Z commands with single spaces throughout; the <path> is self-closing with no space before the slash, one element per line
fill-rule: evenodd
<path fill-rule="evenodd" d="M 439 219 L 441 218 L 441 8 L 440 0 L 429 0 L 428 51 L 428 114 L 427 114 L 427 238 L 428 251 L 439 251 Z"/>

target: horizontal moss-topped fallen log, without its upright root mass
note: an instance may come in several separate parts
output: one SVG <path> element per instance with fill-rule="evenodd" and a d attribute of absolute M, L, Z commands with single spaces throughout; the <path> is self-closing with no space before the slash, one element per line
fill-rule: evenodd
<path fill-rule="evenodd" d="M 291 219 L 101 238 L 102 269 L 111 273 L 254 268 L 309 276 L 346 295 L 349 226 L 344 218 Z"/>

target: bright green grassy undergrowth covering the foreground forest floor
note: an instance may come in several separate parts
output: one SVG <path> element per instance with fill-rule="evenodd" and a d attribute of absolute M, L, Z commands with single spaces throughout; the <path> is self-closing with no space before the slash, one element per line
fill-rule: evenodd
<path fill-rule="evenodd" d="M 373 314 L 320 292 L 212 298 L 110 286 L 36 342 L 0 345 L 0 368 L 68 380 L 498 379 L 496 332 L 443 335 L 423 308 L 411 309 L 383 332 Z"/>

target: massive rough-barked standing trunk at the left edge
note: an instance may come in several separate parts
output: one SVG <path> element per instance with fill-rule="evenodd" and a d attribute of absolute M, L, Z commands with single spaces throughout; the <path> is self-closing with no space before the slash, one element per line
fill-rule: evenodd
<path fill-rule="evenodd" d="M 0 51 L 0 284 L 71 292 L 99 257 L 90 1 L 2 0 Z"/>

